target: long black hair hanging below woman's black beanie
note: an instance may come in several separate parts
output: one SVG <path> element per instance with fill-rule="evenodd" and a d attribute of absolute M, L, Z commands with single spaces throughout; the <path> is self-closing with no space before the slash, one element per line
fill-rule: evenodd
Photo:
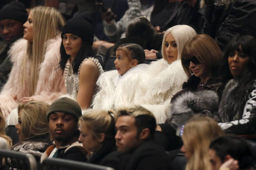
<path fill-rule="evenodd" d="M 62 42 L 61 42 L 61 46 L 60 46 L 60 55 L 61 55 L 61 58 L 60 58 L 60 62 L 59 62 L 59 65 L 60 65 L 59 68 L 61 68 L 62 73 L 63 73 L 66 63 L 67 63 L 67 60 L 70 58 L 70 55 L 67 55 Z M 79 66 L 81 65 L 82 61 L 89 56 L 95 57 L 93 49 L 92 49 L 91 45 L 89 45 L 87 42 L 82 40 L 81 49 L 78 51 L 78 53 L 75 57 L 75 60 L 73 61 L 73 64 L 72 64 L 74 73 L 78 72 Z"/>

